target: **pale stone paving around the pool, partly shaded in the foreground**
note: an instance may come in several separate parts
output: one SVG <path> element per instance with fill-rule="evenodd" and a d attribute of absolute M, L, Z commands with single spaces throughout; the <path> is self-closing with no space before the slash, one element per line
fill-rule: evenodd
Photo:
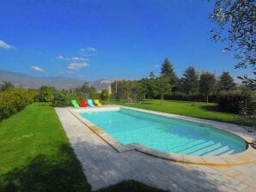
<path fill-rule="evenodd" d="M 129 179 L 168 191 L 250 192 L 256 189 L 256 163 L 192 165 L 155 158 L 136 150 L 119 153 L 74 117 L 70 109 L 56 108 L 56 112 L 93 190 Z M 255 138 L 255 132 L 247 135 L 242 128 L 235 131 Z"/>

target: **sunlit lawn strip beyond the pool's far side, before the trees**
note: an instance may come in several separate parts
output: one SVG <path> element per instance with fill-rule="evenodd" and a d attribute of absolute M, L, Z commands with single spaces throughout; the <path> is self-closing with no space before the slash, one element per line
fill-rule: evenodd
<path fill-rule="evenodd" d="M 217 105 L 214 103 L 206 104 L 204 102 L 163 100 L 161 104 L 161 100 L 158 99 L 145 99 L 140 104 L 125 104 L 121 101 L 110 101 L 110 104 L 125 105 L 188 117 L 199 117 L 227 123 L 237 123 L 237 118 L 240 117 L 237 114 L 218 111 Z"/>

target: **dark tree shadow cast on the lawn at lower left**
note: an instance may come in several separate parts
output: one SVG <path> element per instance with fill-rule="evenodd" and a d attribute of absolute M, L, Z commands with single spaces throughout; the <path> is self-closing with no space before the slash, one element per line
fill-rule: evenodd
<path fill-rule="evenodd" d="M 26 166 L 2 176 L 3 192 L 90 191 L 82 166 L 68 145 L 60 147 L 58 157 L 38 155 Z"/>

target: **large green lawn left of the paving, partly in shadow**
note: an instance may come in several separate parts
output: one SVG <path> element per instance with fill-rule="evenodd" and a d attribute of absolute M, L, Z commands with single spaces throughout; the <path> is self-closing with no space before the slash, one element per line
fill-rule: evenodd
<path fill-rule="evenodd" d="M 90 189 L 52 106 L 35 103 L 0 123 L 1 192 Z M 160 190 L 128 181 L 101 191 Z"/>

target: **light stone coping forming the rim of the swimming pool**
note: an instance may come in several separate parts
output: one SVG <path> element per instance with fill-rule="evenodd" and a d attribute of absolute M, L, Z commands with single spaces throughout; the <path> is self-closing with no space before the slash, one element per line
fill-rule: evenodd
<path fill-rule="evenodd" d="M 79 108 L 79 109 L 70 108 L 69 111 L 78 120 L 80 120 L 83 124 L 85 124 L 89 129 L 94 131 L 96 135 L 99 135 L 101 139 L 106 141 L 111 147 L 113 147 L 119 153 L 125 153 L 126 151 L 136 150 L 140 153 L 145 153 L 156 158 L 167 159 L 167 160 L 177 161 L 177 162 L 186 163 L 186 164 L 196 164 L 196 165 L 243 165 L 243 164 L 256 162 L 256 150 L 253 149 L 253 147 L 251 147 L 250 145 L 248 145 L 247 150 L 245 150 L 244 152 L 235 153 L 233 155 L 227 155 L 227 156 L 195 156 L 195 155 L 185 155 L 185 154 L 178 154 L 178 153 L 166 153 L 166 152 L 161 152 L 149 147 L 145 147 L 138 143 L 123 145 L 119 141 L 115 140 L 111 135 L 108 135 L 105 131 L 95 126 L 93 123 L 90 123 L 88 120 L 86 120 L 79 114 L 86 111 L 116 111 L 116 110 L 119 110 L 119 108 L 131 109 L 135 111 L 143 111 L 143 112 L 147 112 L 155 115 L 161 115 L 165 117 L 174 117 L 174 118 L 178 118 L 185 121 L 191 121 L 194 123 L 207 124 L 222 132 L 228 132 L 229 135 L 230 134 L 234 135 L 247 142 L 252 141 L 252 139 L 256 137 L 255 133 L 252 133 L 252 136 L 248 135 L 241 126 L 231 124 L 231 123 L 221 123 L 221 122 L 216 122 L 212 120 L 205 120 L 205 119 L 200 119 L 195 117 L 185 117 L 180 115 L 174 115 L 174 114 L 158 112 L 158 111 L 143 110 L 143 109 L 121 106 L 121 105 L 107 105 L 101 108 L 96 108 L 96 107 Z"/>

